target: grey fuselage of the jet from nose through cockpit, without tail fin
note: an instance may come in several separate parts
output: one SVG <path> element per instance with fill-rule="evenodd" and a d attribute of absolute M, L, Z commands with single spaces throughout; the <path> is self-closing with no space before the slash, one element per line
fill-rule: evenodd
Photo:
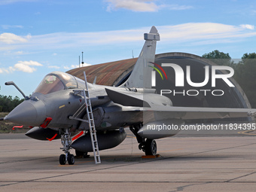
<path fill-rule="evenodd" d="M 140 111 L 123 110 L 122 105 L 109 99 L 105 88 L 144 96 L 144 99 L 148 100 L 151 105 L 159 105 L 163 100 L 166 102 L 166 97 L 154 93 L 143 93 L 142 91 L 135 93 L 133 89 L 125 87 L 88 84 L 97 130 L 114 130 L 120 126 L 143 122 L 143 115 Z M 41 81 L 35 93 L 32 93 L 29 99 L 14 108 L 5 117 L 5 120 L 26 126 L 48 127 L 54 130 L 59 128 L 88 130 L 87 123 L 69 119 L 84 104 L 84 89 L 84 81 L 79 78 L 63 72 L 50 73 Z M 171 102 L 167 101 L 166 105 L 171 105 Z M 85 111 L 79 114 L 79 118 L 86 118 Z"/>

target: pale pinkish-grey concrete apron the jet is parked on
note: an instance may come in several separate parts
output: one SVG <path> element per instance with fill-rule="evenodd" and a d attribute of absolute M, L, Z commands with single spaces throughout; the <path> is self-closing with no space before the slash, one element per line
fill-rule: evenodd
<path fill-rule="evenodd" d="M 116 148 L 60 166 L 60 141 L 1 134 L 0 191 L 254 191 L 254 133 L 158 139 L 159 158 L 142 159 L 129 134 Z M 72 151 L 75 154 L 75 151 Z"/>

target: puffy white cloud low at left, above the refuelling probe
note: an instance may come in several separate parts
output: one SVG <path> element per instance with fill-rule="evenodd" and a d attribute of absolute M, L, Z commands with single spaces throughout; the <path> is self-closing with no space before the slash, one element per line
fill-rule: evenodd
<path fill-rule="evenodd" d="M 35 72 L 35 67 L 31 66 L 43 66 L 41 63 L 36 61 L 19 61 L 14 66 L 10 66 L 9 68 L 1 68 L 0 73 L 11 73 L 11 72 L 26 72 L 26 73 L 32 73 Z"/>

